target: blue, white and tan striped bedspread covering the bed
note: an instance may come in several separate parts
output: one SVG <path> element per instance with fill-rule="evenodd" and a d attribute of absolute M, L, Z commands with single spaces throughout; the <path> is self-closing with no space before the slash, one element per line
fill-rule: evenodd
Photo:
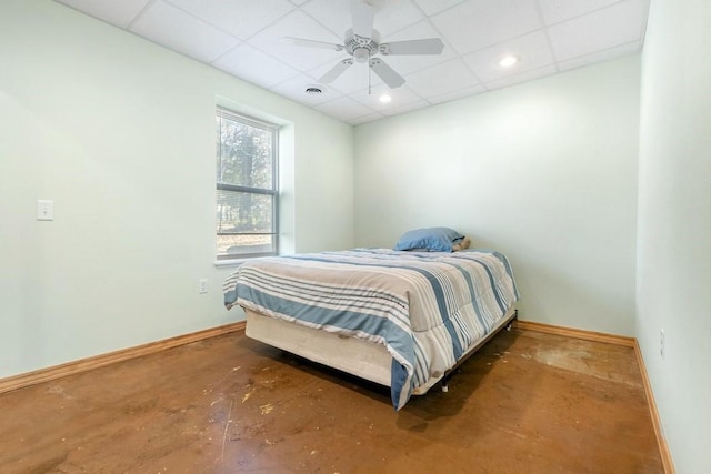
<path fill-rule="evenodd" d="M 224 282 L 224 304 L 383 344 L 392 403 L 440 377 L 487 335 L 519 293 L 508 259 L 356 249 L 254 259 Z"/>

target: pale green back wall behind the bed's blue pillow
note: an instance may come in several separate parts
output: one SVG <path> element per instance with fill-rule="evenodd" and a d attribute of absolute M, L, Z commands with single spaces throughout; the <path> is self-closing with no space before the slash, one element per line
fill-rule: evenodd
<path fill-rule="evenodd" d="M 356 129 L 358 245 L 445 225 L 512 260 L 522 319 L 633 334 L 639 56 Z"/>

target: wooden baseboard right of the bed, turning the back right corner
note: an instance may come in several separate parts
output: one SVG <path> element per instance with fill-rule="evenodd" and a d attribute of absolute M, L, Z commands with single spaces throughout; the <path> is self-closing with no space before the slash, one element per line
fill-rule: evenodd
<path fill-rule="evenodd" d="M 664 435 L 662 433 L 661 418 L 659 417 L 659 412 L 657 411 L 657 403 L 654 402 L 652 385 L 650 384 L 649 376 L 647 374 L 647 366 L 644 365 L 644 359 L 642 359 L 642 352 L 640 350 L 640 345 L 638 344 L 635 337 L 627 337 L 622 335 L 605 334 L 605 333 L 578 330 L 572 327 L 554 326 L 550 324 L 534 323 L 532 321 L 521 321 L 521 320 L 518 320 L 515 322 L 515 326 L 522 330 L 528 330 L 528 331 L 538 331 L 547 334 L 557 334 L 557 335 L 562 335 L 567 337 L 582 339 L 582 340 L 592 341 L 592 342 L 603 342 L 607 344 L 624 345 L 624 346 L 634 349 L 634 355 L 637 357 L 637 364 L 639 365 L 640 373 L 642 375 L 642 385 L 644 386 L 644 395 L 647 396 L 647 403 L 649 405 L 650 415 L 652 417 L 652 426 L 654 427 L 654 436 L 657 436 L 657 444 L 659 445 L 659 453 L 662 458 L 664 473 L 665 474 L 675 473 L 674 464 L 672 463 L 672 460 L 671 460 L 671 452 L 669 451 L 669 446 L 667 445 L 667 440 L 664 438 Z"/>

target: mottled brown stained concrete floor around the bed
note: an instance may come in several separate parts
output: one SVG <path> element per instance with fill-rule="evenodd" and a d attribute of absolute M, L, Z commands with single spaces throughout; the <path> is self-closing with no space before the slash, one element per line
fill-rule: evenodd
<path fill-rule="evenodd" d="M 634 352 L 514 329 L 389 390 L 229 334 L 0 395 L 6 473 L 661 473 Z"/>

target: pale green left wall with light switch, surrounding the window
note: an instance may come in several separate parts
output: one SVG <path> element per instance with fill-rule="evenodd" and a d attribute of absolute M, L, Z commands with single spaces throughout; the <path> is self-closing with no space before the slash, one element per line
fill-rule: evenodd
<path fill-rule="evenodd" d="M 352 246 L 350 125 L 59 3 L 0 3 L 0 377 L 242 317 L 213 265 L 218 100 L 284 124 L 286 250 Z"/>

